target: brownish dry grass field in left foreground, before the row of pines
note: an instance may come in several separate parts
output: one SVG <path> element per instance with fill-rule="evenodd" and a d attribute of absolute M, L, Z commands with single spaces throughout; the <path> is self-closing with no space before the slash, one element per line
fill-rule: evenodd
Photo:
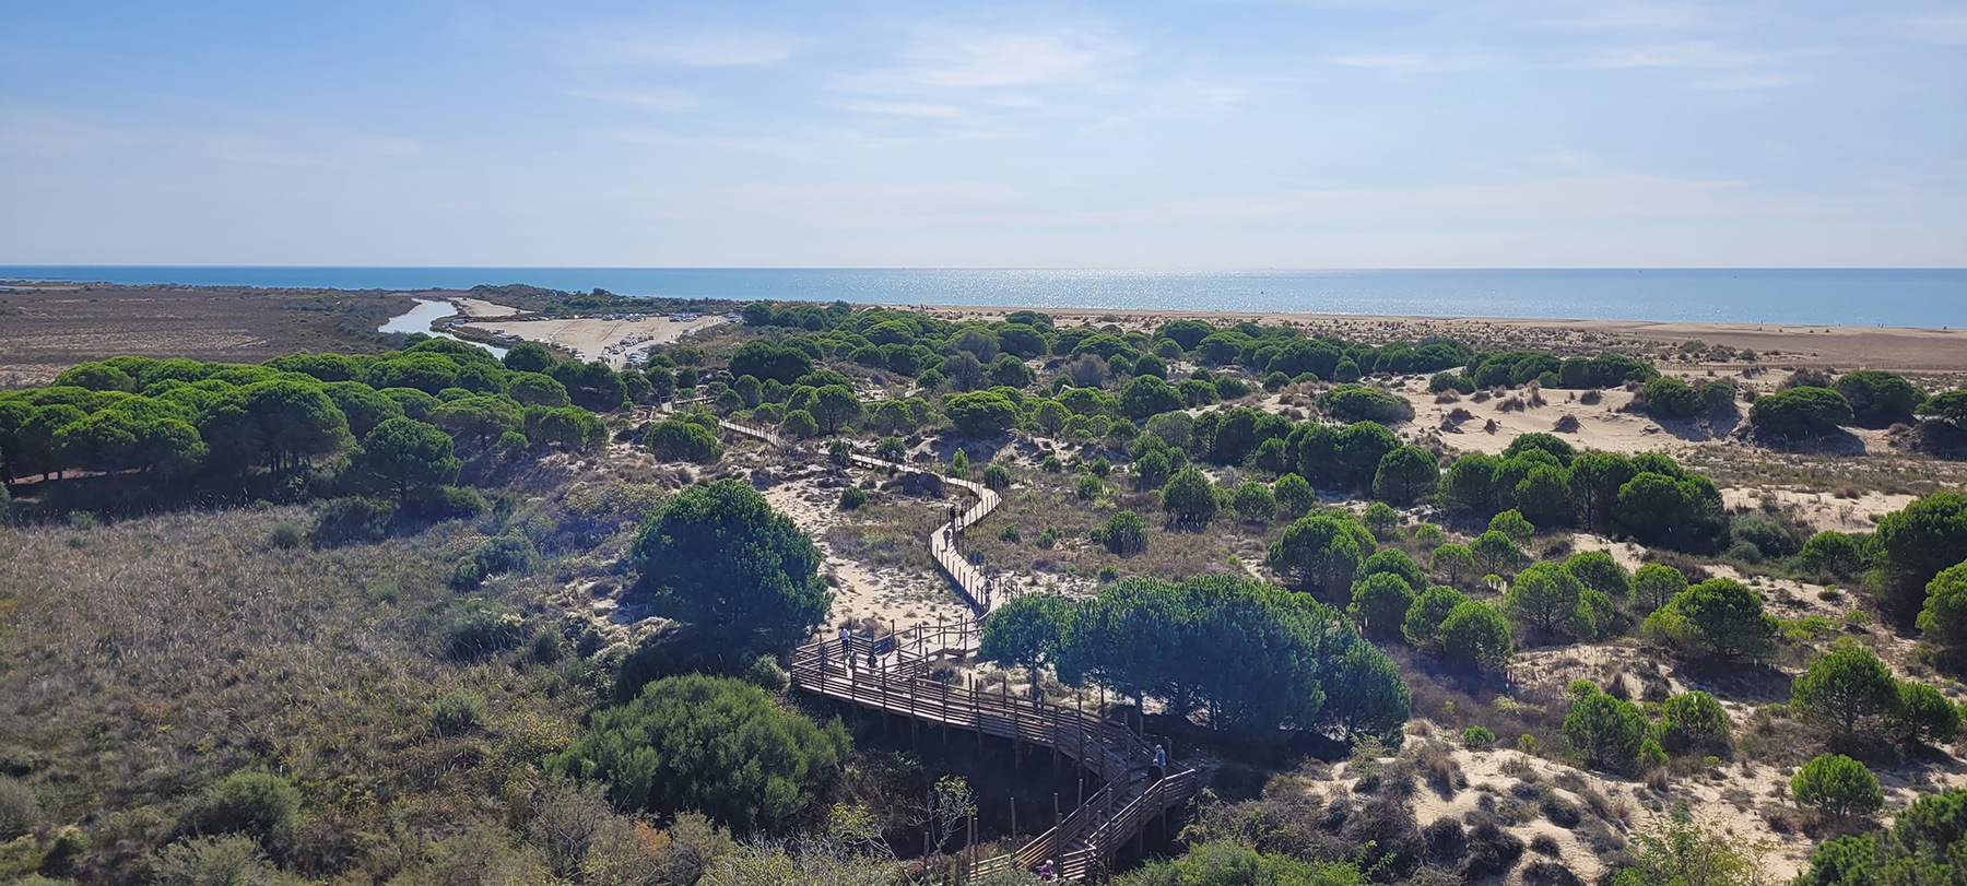
<path fill-rule="evenodd" d="M 578 660 L 445 658 L 445 580 L 472 526 L 283 550 L 283 521 L 307 517 L 0 528 L 0 747 L 43 760 L 31 780 L 59 819 L 96 821 L 98 880 L 142 876 L 116 853 L 161 841 L 183 798 L 240 768 L 301 786 L 309 823 L 279 847 L 297 870 L 389 866 L 425 833 L 496 821 L 496 798 L 529 790 L 592 705 Z M 557 629 L 521 603 L 535 589 L 486 593 Z M 439 737 L 431 709 L 454 690 L 486 697 L 486 725 Z"/>

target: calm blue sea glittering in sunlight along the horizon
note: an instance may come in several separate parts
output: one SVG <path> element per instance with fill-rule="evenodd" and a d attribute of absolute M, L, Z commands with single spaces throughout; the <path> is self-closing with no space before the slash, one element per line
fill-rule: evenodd
<path fill-rule="evenodd" d="M 834 269 L 0 265 L 0 279 L 561 291 L 1098 310 L 1967 326 L 1967 269 Z"/>

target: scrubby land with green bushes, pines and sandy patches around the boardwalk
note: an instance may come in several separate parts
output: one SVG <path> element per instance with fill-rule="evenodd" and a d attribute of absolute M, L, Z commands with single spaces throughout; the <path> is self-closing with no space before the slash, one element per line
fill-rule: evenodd
<path fill-rule="evenodd" d="M 838 601 L 932 578 L 946 477 L 1001 495 L 952 540 L 999 597 L 934 680 L 1105 703 L 1202 766 L 1111 882 L 1753 882 L 1766 847 L 1682 803 L 1823 843 L 1806 882 L 1957 855 L 1951 794 L 1906 800 L 1959 739 L 1967 499 L 1821 530 L 1699 450 L 1414 420 L 1422 389 L 1627 389 L 1688 428 L 1733 379 L 1263 324 L 742 316 L 631 371 L 411 340 L 0 393 L 0 876 L 954 882 L 1074 784 L 897 745 L 787 668 L 923 619 Z M 1959 420 L 1892 373 L 1794 381 L 1739 440 Z M 1031 794 L 1015 831 L 999 784 Z"/>

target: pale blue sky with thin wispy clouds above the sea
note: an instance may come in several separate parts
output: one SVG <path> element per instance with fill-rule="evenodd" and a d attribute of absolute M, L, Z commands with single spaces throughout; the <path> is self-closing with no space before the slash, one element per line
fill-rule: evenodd
<path fill-rule="evenodd" d="M 0 0 L 0 263 L 1967 265 L 1967 4 Z"/>

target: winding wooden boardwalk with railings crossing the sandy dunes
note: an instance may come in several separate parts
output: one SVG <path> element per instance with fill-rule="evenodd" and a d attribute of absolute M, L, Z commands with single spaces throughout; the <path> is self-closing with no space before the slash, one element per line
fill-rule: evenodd
<path fill-rule="evenodd" d="M 791 448 L 771 428 L 718 420 L 726 430 Z M 860 468 L 879 471 L 930 473 L 899 462 L 850 456 Z M 956 591 L 970 603 L 974 619 L 954 625 L 919 625 L 891 637 L 848 635 L 820 638 L 793 650 L 793 686 L 814 695 L 901 715 L 917 723 L 1013 745 L 1052 748 L 1054 760 L 1070 758 L 1092 774 L 1100 788 L 1076 809 L 1060 815 L 1050 829 L 1019 851 L 995 858 L 964 858 L 966 876 L 1011 868 L 1037 870 L 1052 862 L 1062 880 L 1084 880 L 1103 870 L 1127 841 L 1168 809 L 1182 807 L 1200 788 L 1196 770 L 1155 772 L 1157 748 L 1127 727 L 1107 721 L 1103 711 L 1082 711 L 1044 701 L 1025 701 L 1007 693 L 989 695 L 976 686 L 958 686 L 948 664 L 972 658 L 984 617 L 1005 601 L 987 589 L 989 578 L 962 556 L 962 532 L 997 509 L 999 497 L 982 483 L 942 477 L 976 495 L 978 503 L 936 526 L 928 550 Z"/>

